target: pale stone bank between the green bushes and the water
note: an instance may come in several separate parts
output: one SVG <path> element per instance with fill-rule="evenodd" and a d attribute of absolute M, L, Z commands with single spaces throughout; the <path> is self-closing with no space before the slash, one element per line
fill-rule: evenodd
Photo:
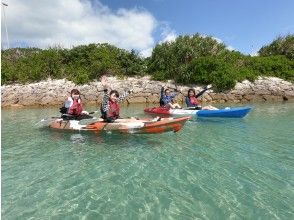
<path fill-rule="evenodd" d="M 201 86 L 175 85 L 172 81 L 158 82 L 150 77 L 117 79 L 108 77 L 113 89 L 120 93 L 133 88 L 133 93 L 126 100 L 127 103 L 158 103 L 161 86 L 177 88 L 181 91 L 177 96 L 182 101 L 190 87 L 200 91 Z M 77 88 L 82 93 L 85 103 L 100 103 L 103 96 L 103 87 L 99 81 L 86 85 L 75 85 L 73 82 L 62 80 L 47 80 L 27 85 L 1 86 L 1 104 L 6 106 L 30 105 L 61 105 L 69 95 L 71 89 Z M 256 102 L 256 101 L 282 101 L 294 100 L 294 85 L 275 77 L 259 78 L 254 82 L 243 81 L 237 83 L 235 88 L 228 92 L 216 93 L 213 90 L 205 93 L 201 102 Z"/>

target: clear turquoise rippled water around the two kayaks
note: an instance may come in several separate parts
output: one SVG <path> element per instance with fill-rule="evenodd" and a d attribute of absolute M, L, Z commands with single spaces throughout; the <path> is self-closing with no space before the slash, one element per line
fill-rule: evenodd
<path fill-rule="evenodd" d="M 253 107 L 179 133 L 103 136 L 38 128 L 54 108 L 2 110 L 2 218 L 293 219 L 294 103 Z"/>

